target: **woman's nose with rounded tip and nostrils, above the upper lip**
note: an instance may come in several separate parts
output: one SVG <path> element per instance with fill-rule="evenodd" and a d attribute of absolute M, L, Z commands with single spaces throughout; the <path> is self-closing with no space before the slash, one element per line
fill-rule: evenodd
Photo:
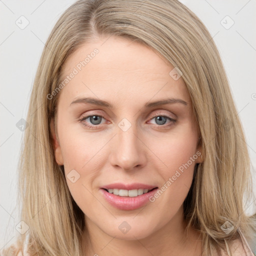
<path fill-rule="evenodd" d="M 136 125 L 132 124 L 128 130 L 116 128 L 117 134 L 109 155 L 110 164 L 127 171 L 143 167 L 146 164 L 146 146 L 137 134 Z"/>

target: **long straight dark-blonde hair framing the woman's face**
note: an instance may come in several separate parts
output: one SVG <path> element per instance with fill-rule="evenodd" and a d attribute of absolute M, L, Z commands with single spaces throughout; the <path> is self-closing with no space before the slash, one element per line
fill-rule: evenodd
<path fill-rule="evenodd" d="M 30 98 L 19 167 L 28 252 L 81 254 L 84 214 L 68 190 L 63 166 L 55 161 L 50 133 L 61 91 L 52 99 L 47 95 L 59 85 L 61 67 L 75 49 L 110 35 L 149 46 L 182 71 L 204 158 L 195 166 L 183 203 L 187 229 L 201 231 L 207 255 L 212 248 L 229 251 L 227 241 L 236 239 L 238 231 L 252 242 L 255 218 L 244 213 L 252 196 L 248 151 L 218 50 L 205 26 L 177 0 L 78 0 L 49 35 Z M 229 233 L 221 228 L 226 220 L 233 225 Z M 18 237 L 20 248 L 25 234 Z"/>

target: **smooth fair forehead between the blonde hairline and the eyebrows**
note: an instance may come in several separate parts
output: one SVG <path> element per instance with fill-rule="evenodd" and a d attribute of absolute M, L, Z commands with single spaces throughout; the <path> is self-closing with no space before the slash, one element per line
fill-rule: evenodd
<path fill-rule="evenodd" d="M 83 43 L 69 55 L 60 80 L 69 78 L 61 94 L 65 98 L 89 93 L 97 97 L 139 96 L 145 100 L 167 94 L 188 102 L 182 76 L 175 80 L 170 75 L 173 68 L 146 45 L 116 36 L 104 37 Z"/>

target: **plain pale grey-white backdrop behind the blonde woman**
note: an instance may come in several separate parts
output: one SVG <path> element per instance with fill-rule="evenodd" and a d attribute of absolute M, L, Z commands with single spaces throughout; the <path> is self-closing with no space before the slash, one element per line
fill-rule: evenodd
<path fill-rule="evenodd" d="M 19 222 L 17 162 L 29 96 L 44 43 L 73 0 L 0 0 L 0 250 Z M 256 0 L 181 0 L 213 36 L 256 166 Z M 24 27 L 25 26 L 25 27 Z M 254 186 L 255 186 L 255 180 Z M 255 212 L 253 203 L 247 209 Z"/>

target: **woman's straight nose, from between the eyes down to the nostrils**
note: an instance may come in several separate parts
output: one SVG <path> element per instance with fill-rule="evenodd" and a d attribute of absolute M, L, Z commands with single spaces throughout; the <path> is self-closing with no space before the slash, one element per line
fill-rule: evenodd
<path fill-rule="evenodd" d="M 118 165 L 122 169 L 132 169 L 137 165 L 143 165 L 145 156 L 139 143 L 136 125 L 127 118 L 123 118 L 116 127 L 115 144 L 111 150 L 110 161 L 112 165 Z"/>

